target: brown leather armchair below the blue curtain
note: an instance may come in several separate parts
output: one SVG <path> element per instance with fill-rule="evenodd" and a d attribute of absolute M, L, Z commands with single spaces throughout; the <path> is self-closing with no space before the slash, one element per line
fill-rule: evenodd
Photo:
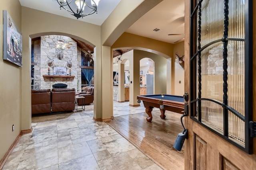
<path fill-rule="evenodd" d="M 94 87 L 86 86 L 83 92 L 80 92 L 77 96 L 84 96 L 85 105 L 93 103 L 94 100 Z M 78 106 L 82 106 L 82 99 L 77 100 Z"/>

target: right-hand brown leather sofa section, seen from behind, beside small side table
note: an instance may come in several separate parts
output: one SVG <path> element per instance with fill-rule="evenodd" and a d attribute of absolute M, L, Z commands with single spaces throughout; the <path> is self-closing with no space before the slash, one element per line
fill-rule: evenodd
<path fill-rule="evenodd" d="M 53 88 L 52 89 L 52 112 L 72 111 L 75 109 L 74 88 Z"/>

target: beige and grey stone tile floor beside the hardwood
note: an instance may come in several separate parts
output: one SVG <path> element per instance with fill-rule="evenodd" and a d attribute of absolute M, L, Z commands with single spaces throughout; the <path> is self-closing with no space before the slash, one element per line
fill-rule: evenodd
<path fill-rule="evenodd" d="M 114 101 L 114 117 L 142 113 L 141 107 Z M 85 111 L 32 117 L 33 132 L 23 135 L 3 170 L 161 170 L 104 122 Z"/>

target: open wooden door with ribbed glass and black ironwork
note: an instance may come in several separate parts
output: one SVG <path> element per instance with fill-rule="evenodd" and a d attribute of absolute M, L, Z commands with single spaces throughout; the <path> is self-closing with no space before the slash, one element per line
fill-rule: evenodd
<path fill-rule="evenodd" d="M 198 2 L 202 2 L 202 4 L 198 5 Z M 192 4 L 191 4 L 192 3 Z M 215 5 L 214 5 L 214 4 Z M 225 116 L 220 117 L 219 115 L 224 115 L 225 111 L 228 111 L 228 116 L 232 115 L 232 113 L 230 113 L 230 111 L 228 110 L 229 107 L 223 107 L 222 106 L 217 106 L 218 104 L 215 104 L 214 102 L 211 103 L 212 101 L 210 101 L 209 104 L 198 104 L 199 102 L 197 102 L 197 104 L 194 104 L 196 102 L 192 102 L 192 100 L 196 100 L 196 98 L 203 98 L 203 97 L 208 97 L 209 99 L 218 99 L 218 96 L 220 96 L 219 93 L 224 93 L 223 89 L 220 88 L 212 88 L 215 87 L 214 85 L 218 86 L 219 82 L 218 80 L 220 79 L 220 81 L 224 81 L 223 76 L 222 75 L 218 75 L 218 73 L 215 72 L 215 74 L 212 74 L 208 69 L 209 72 L 202 70 L 202 75 L 200 73 L 200 78 L 198 77 L 198 62 L 200 62 L 200 65 L 202 64 L 202 67 L 204 68 L 210 68 L 209 66 L 209 60 L 207 60 L 207 57 L 209 55 L 216 55 L 216 53 L 214 54 L 210 54 L 209 51 L 210 49 L 212 49 L 212 47 L 206 47 L 205 49 L 202 50 L 202 53 L 200 53 L 200 58 L 202 59 L 201 61 L 198 61 L 198 59 L 193 63 L 190 61 L 192 60 L 193 57 L 193 51 L 197 51 L 198 47 L 202 48 L 203 47 L 203 43 L 201 42 L 203 41 L 209 34 L 211 34 L 211 38 L 214 39 L 214 36 L 218 36 L 218 31 L 215 31 L 216 29 L 218 29 L 218 26 L 214 27 L 214 24 L 212 24 L 212 22 L 215 19 L 221 18 L 222 16 L 224 16 L 224 12 L 218 12 L 219 14 L 212 14 L 211 12 L 218 9 L 218 8 L 222 8 L 222 9 L 227 9 L 227 5 L 228 5 L 228 9 L 229 9 L 229 21 L 230 23 L 234 24 L 235 26 L 239 26 L 240 24 L 236 25 L 236 22 L 240 22 L 238 20 L 239 15 L 237 15 L 237 18 L 232 18 L 232 14 L 234 12 L 234 10 L 232 8 L 237 8 L 237 6 L 239 6 L 239 4 L 242 3 L 242 5 L 244 5 L 244 16 L 245 16 L 245 20 L 242 21 L 242 23 L 246 24 L 245 26 L 245 38 L 246 40 L 244 40 L 246 42 L 246 44 L 244 46 L 241 46 L 242 48 L 245 48 L 244 51 L 244 56 L 245 59 L 242 59 L 242 61 L 240 62 L 247 62 L 247 64 L 249 64 L 251 67 L 254 67 L 255 70 L 255 66 L 256 66 L 256 60 L 253 60 L 253 64 L 250 64 L 250 62 L 252 63 L 252 60 L 249 60 L 250 62 L 248 62 L 248 58 L 247 57 L 253 57 L 255 58 L 256 56 L 256 43 L 253 42 L 253 40 L 255 41 L 256 39 L 256 3 L 252 4 L 252 0 L 185 0 L 185 92 L 188 92 L 189 96 L 189 100 L 188 100 L 188 104 L 190 107 L 190 111 L 189 111 L 189 116 L 185 117 L 185 128 L 188 129 L 188 139 L 186 139 L 185 143 L 184 143 L 184 152 L 185 152 L 185 170 L 217 170 L 217 169 L 224 169 L 224 170 L 253 170 L 256 169 L 256 140 L 255 138 L 252 137 L 248 137 L 248 131 L 249 130 L 245 130 L 248 129 L 248 119 L 250 119 L 250 121 L 256 121 L 256 100 L 254 98 L 254 96 L 256 96 L 256 88 L 255 88 L 255 84 L 256 84 L 256 74 L 255 73 L 250 73 L 250 72 L 246 72 L 246 74 L 252 74 L 253 77 L 251 77 L 251 79 L 253 80 L 252 83 L 254 84 L 254 88 L 252 87 L 248 87 L 248 82 L 250 82 L 250 80 L 248 80 L 248 82 L 246 82 L 246 76 L 244 79 L 245 84 L 242 88 L 241 91 L 237 91 L 237 92 L 233 92 L 232 94 L 230 94 L 230 91 L 232 92 L 232 90 L 236 90 L 239 89 L 238 86 L 234 86 L 234 82 L 239 82 L 241 79 L 239 78 L 239 76 L 236 76 L 236 78 L 232 78 L 232 76 L 236 75 L 236 73 L 239 71 L 237 68 L 237 65 L 234 65 L 234 67 L 236 67 L 236 69 L 234 69 L 232 72 L 232 74 L 230 74 L 230 72 L 232 71 L 230 66 L 228 67 L 228 103 L 225 103 L 225 101 L 223 102 L 224 105 L 228 106 L 232 106 L 234 108 L 236 108 L 236 111 L 239 112 L 240 110 L 244 111 L 244 112 L 248 112 L 248 108 L 247 108 L 247 102 L 250 103 L 250 106 L 252 109 L 250 110 L 250 112 L 252 113 L 245 113 L 244 117 L 246 117 L 246 121 L 245 122 L 240 122 L 239 118 L 234 118 L 236 120 L 238 120 L 238 124 L 232 124 L 234 123 L 233 121 L 228 121 L 228 125 L 227 127 L 225 126 L 225 123 L 223 123 L 223 119 L 225 119 Z M 236 4 L 236 5 L 235 5 Z M 238 4 L 238 5 L 237 5 Z M 240 4 L 241 5 L 241 4 Z M 224 8 L 225 7 L 225 8 Z M 253 7 L 253 8 L 252 8 Z M 195 18 L 190 18 L 190 16 L 192 16 L 192 12 L 194 11 L 194 9 L 197 8 L 197 10 L 195 10 L 196 12 L 196 19 Z M 200 12 L 198 12 L 198 9 L 200 9 Z M 203 9 L 204 8 L 204 9 Z M 206 9 L 207 8 L 207 9 Z M 246 10 L 245 10 L 246 9 Z M 252 9 L 254 10 L 252 12 Z M 238 14 L 241 10 L 241 8 L 238 7 L 238 9 L 236 10 L 236 14 Z M 250 18 L 250 16 L 252 16 L 253 14 L 253 20 L 251 20 L 250 23 L 249 20 L 252 19 Z M 204 18 L 207 15 L 207 19 Z M 222 15 L 222 16 L 221 16 Z M 201 18 L 202 17 L 202 18 Z M 190 20 L 191 19 L 191 20 Z M 248 20 L 249 19 L 249 20 Z M 248 21 L 246 21 L 248 20 Z M 192 28 L 190 28 L 190 21 L 191 23 L 196 23 L 198 24 L 202 24 L 202 27 L 199 28 L 198 31 L 198 26 L 194 26 Z M 206 23 L 207 21 L 210 21 L 208 23 Z M 221 22 L 221 21 L 220 21 Z M 241 23 L 241 24 L 242 24 Z M 252 24 L 253 23 L 253 24 Z M 224 21 L 220 23 L 222 26 L 224 24 Z M 253 33 L 250 32 L 252 31 L 252 24 L 253 25 Z M 240 28 L 238 27 L 237 29 L 233 26 L 230 26 L 230 29 L 234 31 L 237 30 L 239 32 Z M 251 28 L 248 28 L 251 27 Z M 206 35 L 206 33 L 204 32 L 205 28 L 207 28 L 207 31 L 209 31 L 209 34 Z M 227 31 L 227 29 L 225 29 L 225 31 Z M 237 32 L 237 34 L 234 35 L 239 35 L 239 33 Z M 223 31 L 222 31 L 223 34 Z M 248 35 L 250 34 L 250 35 Z M 200 36 L 200 37 L 199 37 Z M 231 33 L 228 33 L 228 37 L 232 37 L 233 35 Z M 253 40 L 249 41 L 248 36 L 250 38 L 252 38 L 253 36 Z M 195 37 L 197 38 L 195 40 Z M 199 39 L 198 39 L 199 37 Z M 233 36 L 234 37 L 234 36 Z M 242 37 L 240 37 L 242 38 Z M 194 41 L 195 40 L 195 41 Z M 234 40 L 235 41 L 235 40 Z M 239 40 L 238 43 L 236 44 L 236 47 L 239 46 L 240 41 L 243 40 Z M 200 43 L 202 44 L 200 44 Z M 207 43 L 210 43 L 207 42 Z M 204 44 L 207 44 L 204 43 Z M 221 43 L 221 42 L 220 42 Z M 200 47 L 200 45 L 202 45 L 202 47 Z M 251 46 L 250 46 L 251 45 Z M 254 47 L 252 50 L 252 47 Z M 208 49 L 207 49 L 208 48 Z M 249 48 L 246 50 L 246 48 Z M 205 53 L 204 50 L 208 50 L 208 54 L 206 59 L 204 59 L 205 57 Z M 232 51 L 232 50 L 231 50 Z M 234 50 L 233 50 L 234 51 Z M 250 51 L 253 53 L 250 53 Z M 230 53 L 230 51 L 228 51 Z M 248 56 L 249 55 L 249 56 Z M 211 56 L 212 57 L 212 56 Z M 230 55 L 228 55 L 228 57 L 230 57 Z M 250 59 L 251 59 L 250 58 Z M 230 61 L 228 61 L 230 62 Z M 223 64 L 223 63 L 219 63 L 219 64 Z M 228 63 L 230 64 L 230 63 Z M 248 66 L 248 65 L 246 65 Z M 245 66 L 245 67 L 246 67 Z M 195 68 L 196 67 L 196 68 Z M 196 69 L 196 72 L 193 69 Z M 215 68 L 215 71 L 218 71 L 219 68 Z M 244 68 L 244 70 L 246 70 L 247 68 Z M 251 70 L 252 71 L 252 70 Z M 194 75 L 194 73 L 196 73 Z M 222 73 L 220 73 L 222 74 Z M 209 78 L 210 77 L 210 78 Z M 198 87 L 198 79 L 202 79 L 200 80 L 201 83 L 201 89 L 199 90 Z M 196 80 L 196 81 L 194 81 Z M 234 81 L 234 82 L 232 82 Z M 221 86 L 223 86 L 223 84 L 225 85 L 224 82 L 221 82 Z M 231 86 L 233 84 L 233 86 Z M 196 86 L 196 90 L 194 90 L 194 87 Z M 211 88 L 210 88 L 211 87 Z M 218 86 L 219 87 L 219 86 Z M 246 91 L 247 87 L 249 88 L 249 91 Z M 193 88 L 194 91 L 196 91 L 196 94 L 193 94 L 194 91 L 191 90 Z M 209 90 L 210 89 L 210 90 Z M 212 91 L 211 91 L 212 90 Z M 247 89 L 248 90 L 248 89 Z M 198 94 L 198 91 L 200 91 L 201 94 Z M 245 92 L 245 94 L 244 94 Z M 242 97 L 240 96 L 240 94 L 242 95 Z M 194 96 L 193 96 L 194 95 Z M 200 96 L 202 95 L 202 96 Z M 244 96 L 243 96 L 244 95 Z M 225 95 L 221 95 L 225 96 Z M 230 98 L 232 98 L 232 96 L 234 96 L 234 102 L 230 102 Z M 241 101 L 236 101 L 237 96 L 240 96 L 240 99 L 242 101 L 244 101 L 244 105 L 242 105 L 242 109 L 239 106 L 239 103 L 241 103 Z M 248 100 L 248 96 L 249 99 Z M 244 100 L 244 98 L 247 98 L 246 100 Z M 218 99 L 219 100 L 219 99 Z M 221 99 L 220 99 L 221 100 Z M 198 100 L 199 101 L 199 100 Z M 200 100 L 201 101 L 201 100 Z M 207 102 L 208 99 L 207 99 Z M 221 101 L 222 102 L 222 101 Z M 203 103 L 203 100 L 202 100 Z M 199 108 L 200 105 L 200 108 Z M 214 111 L 216 110 L 216 108 L 220 107 L 220 111 Z M 193 108 L 193 109 L 191 109 Z M 206 112 L 207 114 L 203 115 L 200 118 L 198 118 L 199 114 L 198 112 Z M 235 112 L 236 112 L 235 111 Z M 242 112 L 241 111 L 241 112 Z M 214 113 L 214 114 L 211 114 Z M 238 114 L 239 115 L 239 114 Z M 205 116 L 205 117 L 204 117 Z M 242 117 L 242 116 L 241 116 Z M 223 118 L 223 119 L 222 119 Z M 198 121 L 198 119 L 200 119 L 200 121 Z M 202 119 L 202 121 L 201 121 Z M 228 117 L 229 119 L 229 117 Z M 229 119 L 230 120 L 230 119 Z M 214 124 L 217 123 L 216 125 Z M 207 124 L 208 123 L 208 124 Z M 219 124 L 220 123 L 220 126 Z M 224 125 L 223 125 L 224 124 Z M 222 125 L 224 127 L 222 127 Z M 238 127 L 237 129 L 234 129 L 234 127 Z M 223 129 L 224 130 L 223 130 Z M 226 128 L 226 130 L 225 130 Z M 244 129 L 243 129 L 244 128 Z M 230 130 L 232 130 L 230 132 Z M 221 136 L 220 133 L 225 134 L 225 131 L 228 132 L 228 137 L 226 137 L 224 135 Z M 244 134 L 245 133 L 245 134 Z M 238 141 L 234 140 L 230 140 L 230 134 L 236 134 L 234 136 L 238 136 Z M 242 136 L 244 136 L 245 139 L 240 139 L 239 136 L 242 134 Z M 229 138 L 229 139 L 227 139 Z M 245 143 L 246 146 L 244 146 L 243 144 L 241 144 L 239 142 L 239 140 L 241 140 L 241 143 Z M 244 141 L 242 141 L 244 140 Z"/>

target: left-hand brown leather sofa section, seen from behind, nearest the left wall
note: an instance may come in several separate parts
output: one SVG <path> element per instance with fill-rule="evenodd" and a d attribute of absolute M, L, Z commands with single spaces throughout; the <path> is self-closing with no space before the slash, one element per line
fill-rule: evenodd
<path fill-rule="evenodd" d="M 32 115 L 51 112 L 51 90 L 31 90 Z"/>

